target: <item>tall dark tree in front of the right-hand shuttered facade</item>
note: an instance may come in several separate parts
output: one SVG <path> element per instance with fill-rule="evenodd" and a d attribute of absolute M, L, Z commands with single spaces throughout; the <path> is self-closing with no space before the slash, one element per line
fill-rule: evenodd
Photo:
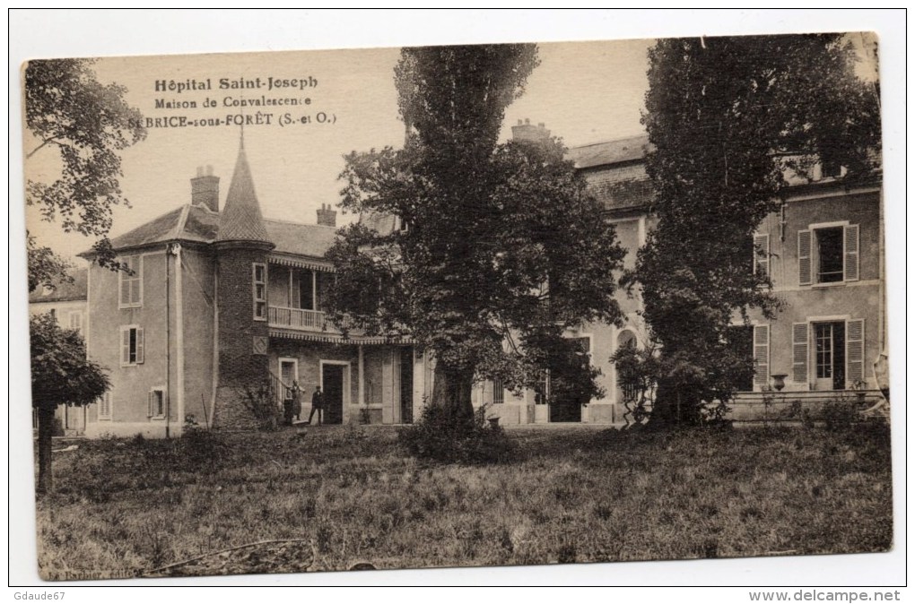
<path fill-rule="evenodd" d="M 667 39 L 649 58 L 643 123 L 659 222 L 635 276 L 660 345 L 652 421 L 694 423 L 752 366 L 727 344 L 733 318 L 777 312 L 749 242 L 785 175 L 823 160 L 845 166 L 847 181 L 866 178 L 879 108 L 841 35 Z"/>

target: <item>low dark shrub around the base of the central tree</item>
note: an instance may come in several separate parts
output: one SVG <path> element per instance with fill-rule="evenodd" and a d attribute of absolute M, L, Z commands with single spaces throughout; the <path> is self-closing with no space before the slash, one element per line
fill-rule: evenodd
<path fill-rule="evenodd" d="M 446 463 L 500 463 L 516 450 L 500 426 L 490 425 L 486 407 L 472 419 L 460 420 L 444 408 L 426 406 L 419 421 L 401 429 L 397 439 L 416 458 Z"/>

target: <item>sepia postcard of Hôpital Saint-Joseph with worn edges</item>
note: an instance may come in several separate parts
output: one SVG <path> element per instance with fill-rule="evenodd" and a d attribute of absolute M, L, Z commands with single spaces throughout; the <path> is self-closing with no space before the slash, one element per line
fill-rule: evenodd
<path fill-rule="evenodd" d="M 881 38 L 706 31 L 19 64 L 26 566 L 887 559 Z"/>

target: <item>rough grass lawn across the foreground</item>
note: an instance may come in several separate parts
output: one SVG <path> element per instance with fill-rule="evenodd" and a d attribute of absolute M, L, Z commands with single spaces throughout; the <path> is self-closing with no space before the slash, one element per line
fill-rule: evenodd
<path fill-rule="evenodd" d="M 415 461 L 386 427 L 81 441 L 38 501 L 40 574 L 131 576 L 281 539 L 307 545 L 281 571 L 891 546 L 888 429 L 507 433 L 519 459 L 489 467 Z M 263 568 L 252 556 L 220 571 Z"/>

